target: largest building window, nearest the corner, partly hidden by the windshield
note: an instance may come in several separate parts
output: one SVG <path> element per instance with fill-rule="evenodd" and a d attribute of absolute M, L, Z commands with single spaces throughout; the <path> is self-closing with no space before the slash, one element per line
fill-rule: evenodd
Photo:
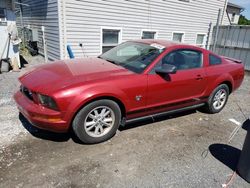
<path fill-rule="evenodd" d="M 120 29 L 102 29 L 102 53 L 107 52 L 120 43 Z"/>

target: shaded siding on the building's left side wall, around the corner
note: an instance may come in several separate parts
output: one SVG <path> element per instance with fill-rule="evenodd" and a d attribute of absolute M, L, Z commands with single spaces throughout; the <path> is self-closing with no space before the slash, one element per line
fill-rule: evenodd
<path fill-rule="evenodd" d="M 43 54 L 41 26 L 44 26 L 48 58 L 50 60 L 60 59 L 60 34 L 57 0 L 23 0 L 22 3 L 30 5 L 29 7 L 23 6 L 24 26 L 30 26 L 30 28 L 38 29 L 39 53 Z M 16 5 L 16 8 L 19 8 L 19 6 Z M 20 26 L 20 17 L 18 17 L 17 23 Z"/>

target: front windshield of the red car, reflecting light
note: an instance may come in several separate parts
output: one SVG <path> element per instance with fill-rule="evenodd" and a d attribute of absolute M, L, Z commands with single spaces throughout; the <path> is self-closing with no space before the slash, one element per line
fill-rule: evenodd
<path fill-rule="evenodd" d="M 100 55 L 99 58 L 135 73 L 142 73 L 163 50 L 164 47 L 159 45 L 125 42 Z"/>

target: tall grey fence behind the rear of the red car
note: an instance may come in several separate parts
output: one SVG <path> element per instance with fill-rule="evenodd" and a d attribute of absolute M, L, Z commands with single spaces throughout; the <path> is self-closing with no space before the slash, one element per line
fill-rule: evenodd
<path fill-rule="evenodd" d="M 215 33 L 216 28 L 212 41 L 215 41 Z M 245 69 L 250 71 L 250 26 L 219 26 L 217 42 L 212 50 L 223 56 L 240 59 Z"/>

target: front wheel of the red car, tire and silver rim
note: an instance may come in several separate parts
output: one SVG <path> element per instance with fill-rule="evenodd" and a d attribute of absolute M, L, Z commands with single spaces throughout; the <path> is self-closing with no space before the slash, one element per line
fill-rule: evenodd
<path fill-rule="evenodd" d="M 73 120 L 73 131 L 86 144 L 112 138 L 121 121 L 119 105 L 112 100 L 94 101 L 82 108 Z"/>

